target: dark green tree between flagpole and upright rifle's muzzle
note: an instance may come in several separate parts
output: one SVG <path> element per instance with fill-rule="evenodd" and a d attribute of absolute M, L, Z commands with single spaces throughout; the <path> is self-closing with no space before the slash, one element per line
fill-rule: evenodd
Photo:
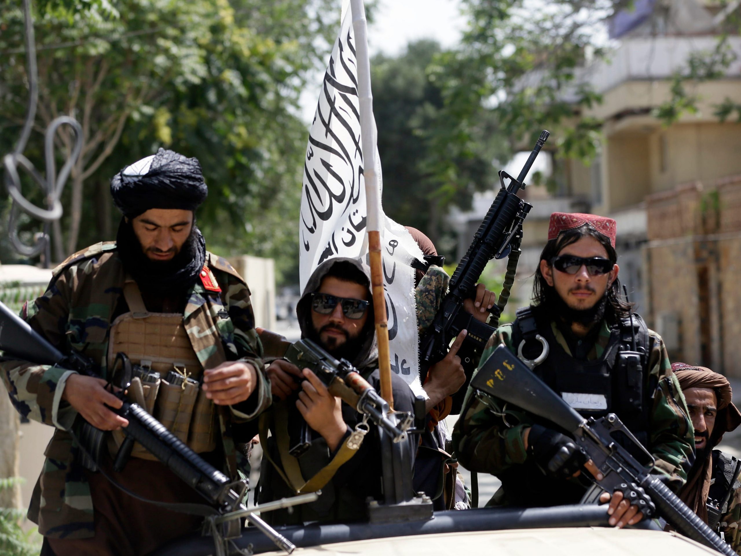
<path fill-rule="evenodd" d="M 422 40 L 398 57 L 376 56 L 371 82 L 384 209 L 447 251 L 442 217 L 451 205 L 471 208 L 475 191 L 494 187 L 494 161 L 504 159 L 507 151 L 491 116 L 467 122 L 468 142 L 451 136 L 457 116 L 445 109 L 430 69 L 440 53 L 439 44 Z"/>

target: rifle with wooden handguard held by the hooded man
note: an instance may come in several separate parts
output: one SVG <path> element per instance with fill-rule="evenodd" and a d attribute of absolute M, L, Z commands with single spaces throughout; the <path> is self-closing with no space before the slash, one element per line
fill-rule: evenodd
<path fill-rule="evenodd" d="M 330 394 L 342 398 L 359 414 L 386 431 L 393 442 L 406 440 L 406 431 L 413 422 L 411 414 L 398 415 L 393 423 L 389 418 L 388 403 L 347 360 L 336 360 L 321 346 L 311 340 L 299 340 L 288 346 L 283 359 L 298 368 L 309 368 L 327 386 Z M 399 419 L 399 417 L 401 417 Z M 299 457 L 311 446 L 311 436 L 305 420 L 296 420 L 289 430 L 290 454 Z"/>

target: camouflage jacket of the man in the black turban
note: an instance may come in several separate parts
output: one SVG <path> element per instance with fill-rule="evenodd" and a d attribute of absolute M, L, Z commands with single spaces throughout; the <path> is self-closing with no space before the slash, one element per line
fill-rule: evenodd
<path fill-rule="evenodd" d="M 224 471 L 234 477 L 238 469 L 248 469 L 248 464 L 234 448 L 231 425 L 252 419 L 270 404 L 270 384 L 263 374 L 262 345 L 254 330 L 247 285 L 225 259 L 207 253 L 206 262 L 221 291 L 208 290 L 199 281 L 187 294 L 183 320 L 193 349 L 203 367 L 212 368 L 221 363 L 216 345 L 222 342 L 228 360 L 252 363 L 259 376 L 256 394 L 248 404 L 250 409 L 245 409 L 249 414 L 233 407 L 219 411 Z M 61 351 L 84 350 L 88 357 L 100 363 L 102 377 L 106 377 L 109 327 L 122 296 L 124 277 L 115 242 L 98 243 L 59 265 L 53 271 L 47 291 L 27 302 L 21 317 Z M 39 524 L 39 532 L 47 537 L 92 537 L 90 487 L 77 463 L 79 449 L 67 432 L 77 412 L 62 400 L 64 382 L 73 371 L 19 360 L 3 360 L 0 367 L 10 399 L 19 413 L 56 427 L 44 451 L 46 461 L 28 517 Z"/>

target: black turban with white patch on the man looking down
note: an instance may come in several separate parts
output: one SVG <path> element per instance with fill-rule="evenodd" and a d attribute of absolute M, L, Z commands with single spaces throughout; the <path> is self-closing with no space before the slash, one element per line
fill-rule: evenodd
<path fill-rule="evenodd" d="M 161 148 L 113 176 L 110 194 L 119 211 L 134 218 L 150 208 L 195 211 L 208 188 L 198 159 Z"/>

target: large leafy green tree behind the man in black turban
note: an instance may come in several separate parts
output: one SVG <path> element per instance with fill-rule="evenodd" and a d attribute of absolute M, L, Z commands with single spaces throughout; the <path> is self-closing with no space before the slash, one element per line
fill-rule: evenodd
<path fill-rule="evenodd" d="M 295 234 L 266 241 L 263 228 L 287 213 L 292 221 L 298 211 L 293 190 L 306 139 L 297 103 L 310 71 L 325 62 L 338 4 L 121 0 L 87 10 L 73 0 L 44 4 L 36 14 L 41 96 L 32 159 L 41 159 L 41 132 L 60 113 L 79 119 L 85 140 L 64 194 L 59 228 L 67 233 L 64 242 L 56 234 L 56 258 L 112 239 L 110 176 L 165 146 L 202 163 L 210 194 L 199 224 L 213 231 L 211 247 L 277 257 L 279 268 L 289 268 L 282 255 L 296 251 Z M 7 149 L 26 113 L 27 76 L 21 11 L 2 12 L 0 81 L 7 85 L 0 91 L 0 147 Z M 66 130 L 59 133 L 60 153 L 70 142 Z"/>

